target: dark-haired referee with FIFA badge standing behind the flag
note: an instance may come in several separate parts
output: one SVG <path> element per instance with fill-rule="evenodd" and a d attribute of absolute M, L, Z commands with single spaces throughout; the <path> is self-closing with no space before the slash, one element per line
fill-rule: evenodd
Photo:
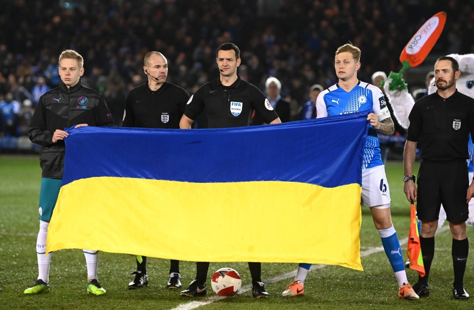
<path fill-rule="evenodd" d="M 255 110 L 267 124 L 281 123 L 265 95 L 254 85 L 240 79 L 237 67 L 240 65 L 240 50 L 233 43 L 224 43 L 217 48 L 219 78 L 202 85 L 191 96 L 186 111 L 179 123 L 182 129 L 190 129 L 197 115 L 206 108 L 208 128 L 243 127 L 249 125 Z M 252 276 L 252 295 L 256 298 L 269 297 L 262 282 L 261 263 L 248 263 Z M 208 262 L 197 262 L 196 279 L 181 296 L 196 297 L 206 294 Z"/>

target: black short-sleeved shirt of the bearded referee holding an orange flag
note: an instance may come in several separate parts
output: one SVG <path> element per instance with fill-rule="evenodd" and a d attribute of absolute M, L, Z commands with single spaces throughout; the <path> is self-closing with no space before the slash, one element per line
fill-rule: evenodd
<path fill-rule="evenodd" d="M 474 137 L 474 99 L 458 90 L 449 98 L 436 93 L 418 100 L 408 117 L 409 141 L 420 141 L 422 158 L 468 159 L 469 133 Z"/>

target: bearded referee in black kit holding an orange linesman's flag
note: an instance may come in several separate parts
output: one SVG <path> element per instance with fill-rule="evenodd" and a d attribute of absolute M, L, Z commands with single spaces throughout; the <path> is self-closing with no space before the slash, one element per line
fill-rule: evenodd
<path fill-rule="evenodd" d="M 474 195 L 474 182 L 469 185 L 469 134 L 474 137 L 474 99 L 456 89 L 461 75 L 458 62 L 448 56 L 435 63 L 436 92 L 418 100 L 410 112 L 408 137 L 403 165 L 404 192 L 408 201 L 417 203 L 421 220 L 420 244 L 426 275 L 419 276 L 413 290 L 429 296 L 428 277 L 435 254 L 435 231 L 440 205 L 443 204 L 453 236 L 453 296 L 468 299 L 464 289 L 464 272 L 469 252 L 466 235 L 468 202 Z M 420 141 L 422 162 L 418 172 L 418 190 L 412 181 L 417 141 Z"/>

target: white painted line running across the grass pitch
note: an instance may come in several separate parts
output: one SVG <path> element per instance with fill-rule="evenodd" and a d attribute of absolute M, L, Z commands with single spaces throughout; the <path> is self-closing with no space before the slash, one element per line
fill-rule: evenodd
<path fill-rule="evenodd" d="M 446 225 L 446 226 L 443 226 L 443 227 L 437 229 L 436 232 L 437 233 L 442 233 L 442 232 L 444 232 L 448 229 L 449 229 L 449 225 Z M 400 241 L 400 245 L 405 245 L 406 243 L 408 243 L 408 238 L 405 238 L 403 241 Z M 368 256 L 368 255 L 371 255 L 371 254 L 374 254 L 374 253 L 377 253 L 377 252 L 382 252 L 382 251 L 384 251 L 383 246 L 372 247 L 368 250 L 361 251 L 360 252 L 360 257 L 365 257 L 365 256 Z M 315 270 L 315 269 L 321 269 L 321 268 L 324 268 L 325 266 L 326 265 L 315 264 L 315 265 L 311 266 L 310 271 Z M 282 274 L 282 275 L 273 277 L 271 279 L 265 279 L 265 284 L 275 283 L 275 282 L 278 282 L 278 281 L 281 281 L 281 280 L 284 280 L 284 279 L 292 278 L 292 277 L 296 276 L 297 271 L 298 270 L 294 270 L 294 271 L 290 271 L 286 274 Z M 249 291 L 251 289 L 252 289 L 252 284 L 251 283 L 247 284 L 247 285 L 244 285 L 240 288 L 240 291 L 238 292 L 238 294 L 245 293 L 246 291 Z M 211 291 L 212 291 L 212 289 L 211 289 Z M 214 296 L 207 297 L 207 298 L 199 300 L 199 301 L 193 300 L 192 302 L 181 304 L 178 307 L 173 308 L 171 310 L 192 310 L 192 309 L 196 309 L 196 308 L 201 307 L 201 306 L 211 304 L 211 303 L 213 303 L 215 301 L 218 301 L 220 299 L 222 299 L 222 297 L 214 295 Z"/>

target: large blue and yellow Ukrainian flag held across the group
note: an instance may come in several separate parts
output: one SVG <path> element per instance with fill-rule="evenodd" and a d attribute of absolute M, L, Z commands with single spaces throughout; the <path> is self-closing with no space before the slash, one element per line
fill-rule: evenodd
<path fill-rule="evenodd" d="M 277 125 L 68 130 L 47 251 L 360 263 L 366 113 Z"/>

